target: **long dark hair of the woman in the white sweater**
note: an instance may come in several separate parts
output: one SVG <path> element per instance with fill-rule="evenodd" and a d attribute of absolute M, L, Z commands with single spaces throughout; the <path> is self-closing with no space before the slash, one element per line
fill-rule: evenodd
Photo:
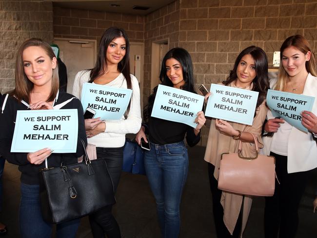
<path fill-rule="evenodd" d="M 132 88 L 131 77 L 130 77 L 130 64 L 129 64 L 129 49 L 130 43 L 129 38 L 126 32 L 118 27 L 112 26 L 105 30 L 103 33 L 100 43 L 99 43 L 99 51 L 97 56 L 97 61 L 95 67 L 90 71 L 90 80 L 89 82 L 93 82 L 95 79 L 99 78 L 103 75 L 107 68 L 107 60 L 106 60 L 106 52 L 110 42 L 119 37 L 123 37 L 125 39 L 125 55 L 123 59 L 118 64 L 118 70 L 123 74 L 124 78 L 127 81 L 127 87 Z"/>

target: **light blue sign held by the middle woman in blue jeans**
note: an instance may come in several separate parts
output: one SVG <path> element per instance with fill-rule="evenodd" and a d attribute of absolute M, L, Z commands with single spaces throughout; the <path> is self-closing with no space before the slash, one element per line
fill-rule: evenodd
<path fill-rule="evenodd" d="M 196 128 L 204 97 L 177 88 L 158 85 L 151 117 L 176 121 Z"/>

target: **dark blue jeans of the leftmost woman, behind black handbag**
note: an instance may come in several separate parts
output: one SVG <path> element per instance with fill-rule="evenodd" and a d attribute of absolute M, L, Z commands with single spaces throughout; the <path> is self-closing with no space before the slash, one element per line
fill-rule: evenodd
<path fill-rule="evenodd" d="M 65 208 L 67 209 L 67 208 Z M 50 238 L 52 224 L 46 223 L 40 211 L 40 185 L 21 183 L 20 233 L 22 238 Z M 56 227 L 57 238 L 75 238 L 80 218 Z"/>

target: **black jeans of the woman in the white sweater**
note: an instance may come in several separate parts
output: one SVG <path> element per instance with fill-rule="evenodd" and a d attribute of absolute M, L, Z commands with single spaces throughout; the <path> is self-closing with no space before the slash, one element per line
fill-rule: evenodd
<path fill-rule="evenodd" d="M 97 158 L 105 159 L 116 192 L 122 169 L 123 147 L 97 147 Z M 104 238 L 104 234 L 108 238 L 121 238 L 118 222 L 113 217 L 111 211 L 112 205 L 106 206 L 96 213 L 89 215 L 89 222 L 94 238 Z"/>

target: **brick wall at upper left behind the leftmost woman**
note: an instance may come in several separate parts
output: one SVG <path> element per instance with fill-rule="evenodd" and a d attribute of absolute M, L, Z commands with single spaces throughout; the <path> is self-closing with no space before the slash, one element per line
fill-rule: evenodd
<path fill-rule="evenodd" d="M 0 1 L 0 92 L 14 88 L 15 56 L 29 38 L 53 40 L 52 3 L 43 0 Z"/>

